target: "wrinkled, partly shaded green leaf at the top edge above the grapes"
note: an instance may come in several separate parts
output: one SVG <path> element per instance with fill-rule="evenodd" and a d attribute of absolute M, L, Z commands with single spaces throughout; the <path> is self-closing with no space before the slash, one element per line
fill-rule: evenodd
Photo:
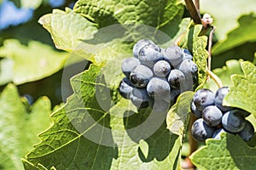
<path fill-rule="evenodd" d="M 155 8 L 157 7 L 157 8 Z M 83 14 L 100 27 L 113 24 L 141 24 L 153 26 L 172 37 L 182 18 L 183 4 L 176 0 L 160 1 L 85 1 L 74 6 L 74 12 Z M 126 27 L 128 28 L 128 27 Z M 129 28 L 128 28 L 129 29 Z M 172 35 L 170 35 L 172 33 Z"/>

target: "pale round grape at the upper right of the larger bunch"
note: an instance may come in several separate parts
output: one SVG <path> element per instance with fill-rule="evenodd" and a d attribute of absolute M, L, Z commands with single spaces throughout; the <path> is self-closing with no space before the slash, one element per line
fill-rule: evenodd
<path fill-rule="evenodd" d="M 162 53 L 164 54 L 164 59 L 173 66 L 183 61 L 183 50 L 176 45 L 166 48 Z"/>

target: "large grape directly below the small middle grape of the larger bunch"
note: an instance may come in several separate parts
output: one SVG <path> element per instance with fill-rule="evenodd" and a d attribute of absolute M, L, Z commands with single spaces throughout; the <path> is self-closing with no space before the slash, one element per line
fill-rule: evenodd
<path fill-rule="evenodd" d="M 164 78 L 153 77 L 148 82 L 147 92 L 151 98 L 170 101 L 170 91 L 170 85 Z"/>

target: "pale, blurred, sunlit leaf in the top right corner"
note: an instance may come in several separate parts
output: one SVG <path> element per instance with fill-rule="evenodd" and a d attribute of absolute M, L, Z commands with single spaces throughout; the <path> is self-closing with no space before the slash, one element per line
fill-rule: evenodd
<path fill-rule="evenodd" d="M 217 28 L 215 32 L 219 40 L 224 40 L 228 32 L 237 27 L 237 20 L 241 17 L 241 15 L 256 12 L 256 4 L 254 3 L 254 0 L 247 0 L 246 2 L 247 3 L 233 0 L 201 1 L 201 13 L 208 13 L 212 15 L 212 18 L 214 19 L 213 26 L 216 26 Z M 250 24 L 251 23 L 247 23 L 247 26 Z M 253 34 L 254 31 L 250 30 L 247 33 Z"/>

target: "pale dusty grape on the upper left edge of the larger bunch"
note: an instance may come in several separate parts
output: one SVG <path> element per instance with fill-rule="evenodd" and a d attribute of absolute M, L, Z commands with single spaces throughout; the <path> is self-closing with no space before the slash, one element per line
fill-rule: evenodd
<path fill-rule="evenodd" d="M 126 77 L 130 77 L 131 70 L 137 65 L 140 65 L 139 59 L 134 57 L 127 58 L 123 60 L 121 69 Z"/>

